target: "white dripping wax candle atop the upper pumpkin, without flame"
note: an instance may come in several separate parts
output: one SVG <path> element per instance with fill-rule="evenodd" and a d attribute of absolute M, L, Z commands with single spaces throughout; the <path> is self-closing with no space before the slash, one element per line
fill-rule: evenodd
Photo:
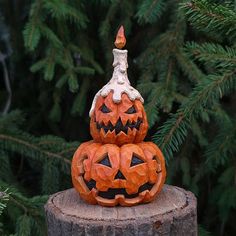
<path fill-rule="evenodd" d="M 113 92 L 112 98 L 114 103 L 121 102 L 121 96 L 123 93 L 126 93 L 131 101 L 139 99 L 142 103 L 144 102 L 139 91 L 130 85 L 127 75 L 127 68 L 128 68 L 127 54 L 128 54 L 127 50 L 113 49 L 114 71 L 112 74 L 112 78 L 95 95 L 89 112 L 90 117 L 93 114 L 97 98 L 99 96 L 106 97 L 110 92 Z"/>

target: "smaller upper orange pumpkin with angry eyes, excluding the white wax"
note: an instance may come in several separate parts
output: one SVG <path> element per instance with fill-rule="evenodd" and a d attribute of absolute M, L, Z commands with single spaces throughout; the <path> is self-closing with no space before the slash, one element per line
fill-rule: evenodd
<path fill-rule="evenodd" d="M 146 112 L 140 100 L 131 101 L 126 93 L 121 102 L 114 103 L 112 92 L 106 97 L 99 96 L 90 120 L 90 133 L 95 142 L 139 143 L 148 130 Z"/>

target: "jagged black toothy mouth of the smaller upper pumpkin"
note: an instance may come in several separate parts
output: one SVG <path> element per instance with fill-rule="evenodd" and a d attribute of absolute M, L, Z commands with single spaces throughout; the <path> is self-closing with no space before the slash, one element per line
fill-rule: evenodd
<path fill-rule="evenodd" d="M 133 121 L 131 122 L 130 120 L 128 120 L 126 122 L 125 125 L 122 124 L 121 122 L 121 118 L 118 119 L 118 121 L 116 122 L 115 126 L 109 121 L 108 125 L 105 125 L 103 122 L 99 123 L 96 122 L 97 125 L 97 129 L 103 129 L 105 131 L 105 133 L 107 133 L 109 130 L 112 132 L 113 130 L 115 130 L 116 135 L 120 132 L 124 132 L 125 134 L 128 133 L 128 128 L 130 128 L 131 130 L 133 130 L 134 128 L 139 130 L 140 125 L 142 124 L 142 119 L 138 118 L 137 122 Z"/>

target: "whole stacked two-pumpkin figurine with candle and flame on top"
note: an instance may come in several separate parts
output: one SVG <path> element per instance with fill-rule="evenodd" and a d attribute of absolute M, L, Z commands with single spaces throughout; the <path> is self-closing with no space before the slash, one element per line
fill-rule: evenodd
<path fill-rule="evenodd" d="M 143 142 L 148 122 L 140 93 L 127 77 L 124 29 L 113 49 L 111 80 L 95 95 L 90 110 L 92 141 L 72 160 L 72 182 L 90 204 L 132 206 L 152 201 L 166 177 L 165 160 L 152 142 Z"/>

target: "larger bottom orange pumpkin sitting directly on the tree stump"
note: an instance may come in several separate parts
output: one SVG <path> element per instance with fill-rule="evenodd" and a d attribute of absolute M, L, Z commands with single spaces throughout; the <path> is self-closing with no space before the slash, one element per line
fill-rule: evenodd
<path fill-rule="evenodd" d="M 165 161 L 151 142 L 80 145 L 72 160 L 72 181 L 90 204 L 132 206 L 150 202 L 161 190 Z"/>

